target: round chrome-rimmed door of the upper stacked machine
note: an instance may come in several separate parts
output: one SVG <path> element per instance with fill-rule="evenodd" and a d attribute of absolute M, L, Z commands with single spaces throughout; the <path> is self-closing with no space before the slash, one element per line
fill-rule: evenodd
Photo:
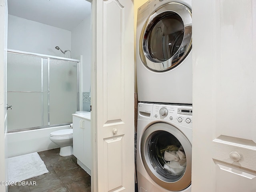
<path fill-rule="evenodd" d="M 168 3 L 154 11 L 140 35 L 143 64 L 164 72 L 178 66 L 192 48 L 192 13 L 180 3 Z"/>

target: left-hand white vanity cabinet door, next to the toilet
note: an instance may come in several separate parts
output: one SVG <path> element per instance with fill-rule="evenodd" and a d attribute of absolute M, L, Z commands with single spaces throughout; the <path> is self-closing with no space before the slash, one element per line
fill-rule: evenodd
<path fill-rule="evenodd" d="M 84 129 L 80 128 L 83 119 L 73 116 L 73 153 L 81 162 L 84 159 Z"/>

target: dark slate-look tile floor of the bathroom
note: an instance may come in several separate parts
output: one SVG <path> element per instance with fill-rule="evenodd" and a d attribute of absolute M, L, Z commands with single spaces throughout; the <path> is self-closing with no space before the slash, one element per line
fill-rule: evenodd
<path fill-rule="evenodd" d="M 60 148 L 38 152 L 49 172 L 25 180 L 36 186 L 9 186 L 9 192 L 91 192 L 91 177 L 76 157 L 62 157 L 59 152 Z"/>

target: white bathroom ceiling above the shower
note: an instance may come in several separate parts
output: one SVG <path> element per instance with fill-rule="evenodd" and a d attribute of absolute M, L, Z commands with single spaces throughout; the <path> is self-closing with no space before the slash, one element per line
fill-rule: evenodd
<path fill-rule="evenodd" d="M 90 13 L 86 0 L 8 0 L 8 14 L 69 31 Z"/>

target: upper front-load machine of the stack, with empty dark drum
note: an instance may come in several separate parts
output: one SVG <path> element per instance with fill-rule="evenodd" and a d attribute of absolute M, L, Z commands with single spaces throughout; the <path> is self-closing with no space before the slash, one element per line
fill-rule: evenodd
<path fill-rule="evenodd" d="M 192 1 L 150 0 L 138 8 L 138 100 L 192 104 Z"/>

